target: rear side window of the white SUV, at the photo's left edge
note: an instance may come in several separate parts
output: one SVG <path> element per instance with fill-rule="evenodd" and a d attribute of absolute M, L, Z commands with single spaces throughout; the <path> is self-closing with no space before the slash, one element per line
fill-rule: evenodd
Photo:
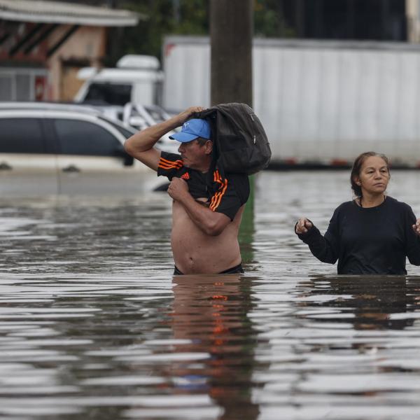
<path fill-rule="evenodd" d="M 47 153 L 36 118 L 0 118 L 0 153 Z"/>

